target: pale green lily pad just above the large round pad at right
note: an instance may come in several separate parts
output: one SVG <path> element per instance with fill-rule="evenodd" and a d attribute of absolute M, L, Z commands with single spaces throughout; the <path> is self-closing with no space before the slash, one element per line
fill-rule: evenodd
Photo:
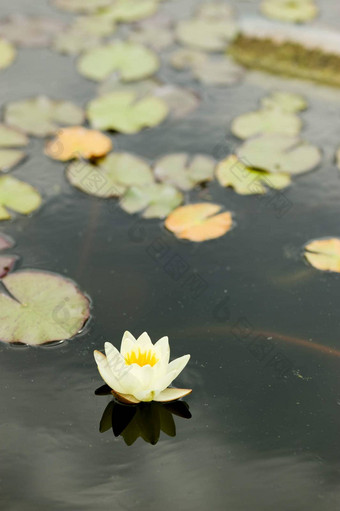
<path fill-rule="evenodd" d="M 236 137 L 247 139 L 265 133 L 298 135 L 302 121 L 295 114 L 279 109 L 263 109 L 236 117 L 231 125 L 231 132 Z"/>

